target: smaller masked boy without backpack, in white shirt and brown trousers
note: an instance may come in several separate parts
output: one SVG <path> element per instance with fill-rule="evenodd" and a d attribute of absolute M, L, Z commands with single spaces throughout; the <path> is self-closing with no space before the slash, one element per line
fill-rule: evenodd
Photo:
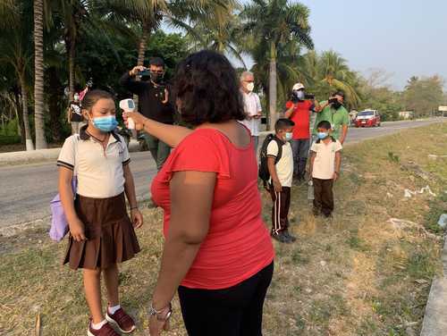
<path fill-rule="evenodd" d="M 342 144 L 332 137 L 331 122 L 316 125 L 317 140 L 310 148 L 310 176 L 314 184 L 314 214 L 331 217 L 333 182 L 337 181 L 342 163 Z"/>

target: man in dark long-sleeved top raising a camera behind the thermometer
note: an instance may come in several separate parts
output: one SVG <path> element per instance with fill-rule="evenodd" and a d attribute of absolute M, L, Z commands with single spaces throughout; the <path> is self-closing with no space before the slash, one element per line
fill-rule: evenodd
<path fill-rule="evenodd" d="M 137 80 L 137 76 L 141 77 Z M 136 66 L 122 75 L 120 83 L 134 95 L 139 97 L 139 113 L 155 120 L 173 124 L 174 105 L 170 97 L 171 90 L 164 82 L 164 62 L 159 57 L 149 60 L 149 68 Z M 171 148 L 155 137 L 144 135 L 150 153 L 156 160 L 156 168 L 160 170 L 171 152 Z"/>

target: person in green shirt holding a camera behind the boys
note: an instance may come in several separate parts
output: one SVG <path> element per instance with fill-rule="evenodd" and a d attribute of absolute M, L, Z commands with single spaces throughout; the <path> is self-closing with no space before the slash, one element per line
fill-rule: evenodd
<path fill-rule="evenodd" d="M 342 91 L 336 91 L 333 96 L 329 97 L 329 100 L 322 102 L 319 108 L 316 108 L 316 121 L 313 130 L 313 135 L 316 136 L 316 125 L 319 122 L 327 121 L 332 125 L 333 139 L 340 140 L 343 144 L 348 134 L 348 126 L 350 124 L 350 113 L 343 106 L 344 93 Z"/>

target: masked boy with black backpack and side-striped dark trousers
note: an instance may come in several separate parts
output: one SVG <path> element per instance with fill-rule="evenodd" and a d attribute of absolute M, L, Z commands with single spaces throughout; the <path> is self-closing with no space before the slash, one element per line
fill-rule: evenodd
<path fill-rule="evenodd" d="M 270 141 L 267 147 L 267 166 L 271 176 L 270 194 L 274 202 L 272 208 L 272 237 L 282 243 L 291 243 L 296 238 L 289 233 L 289 208 L 291 206 L 291 181 L 293 179 L 293 154 L 291 139 L 295 123 L 289 119 L 279 119 L 274 125 L 278 141 Z M 279 144 L 282 154 L 278 162 Z"/>

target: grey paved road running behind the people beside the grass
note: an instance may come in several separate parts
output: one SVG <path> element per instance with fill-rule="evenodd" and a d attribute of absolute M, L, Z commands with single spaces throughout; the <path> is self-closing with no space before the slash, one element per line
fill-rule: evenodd
<path fill-rule="evenodd" d="M 347 142 L 358 142 L 424 126 L 435 121 L 384 122 L 381 128 L 350 129 Z M 156 167 L 149 152 L 131 154 L 131 170 L 138 197 L 148 197 Z M 0 167 L 0 227 L 27 223 L 49 215 L 49 201 L 57 193 L 55 163 Z"/>

